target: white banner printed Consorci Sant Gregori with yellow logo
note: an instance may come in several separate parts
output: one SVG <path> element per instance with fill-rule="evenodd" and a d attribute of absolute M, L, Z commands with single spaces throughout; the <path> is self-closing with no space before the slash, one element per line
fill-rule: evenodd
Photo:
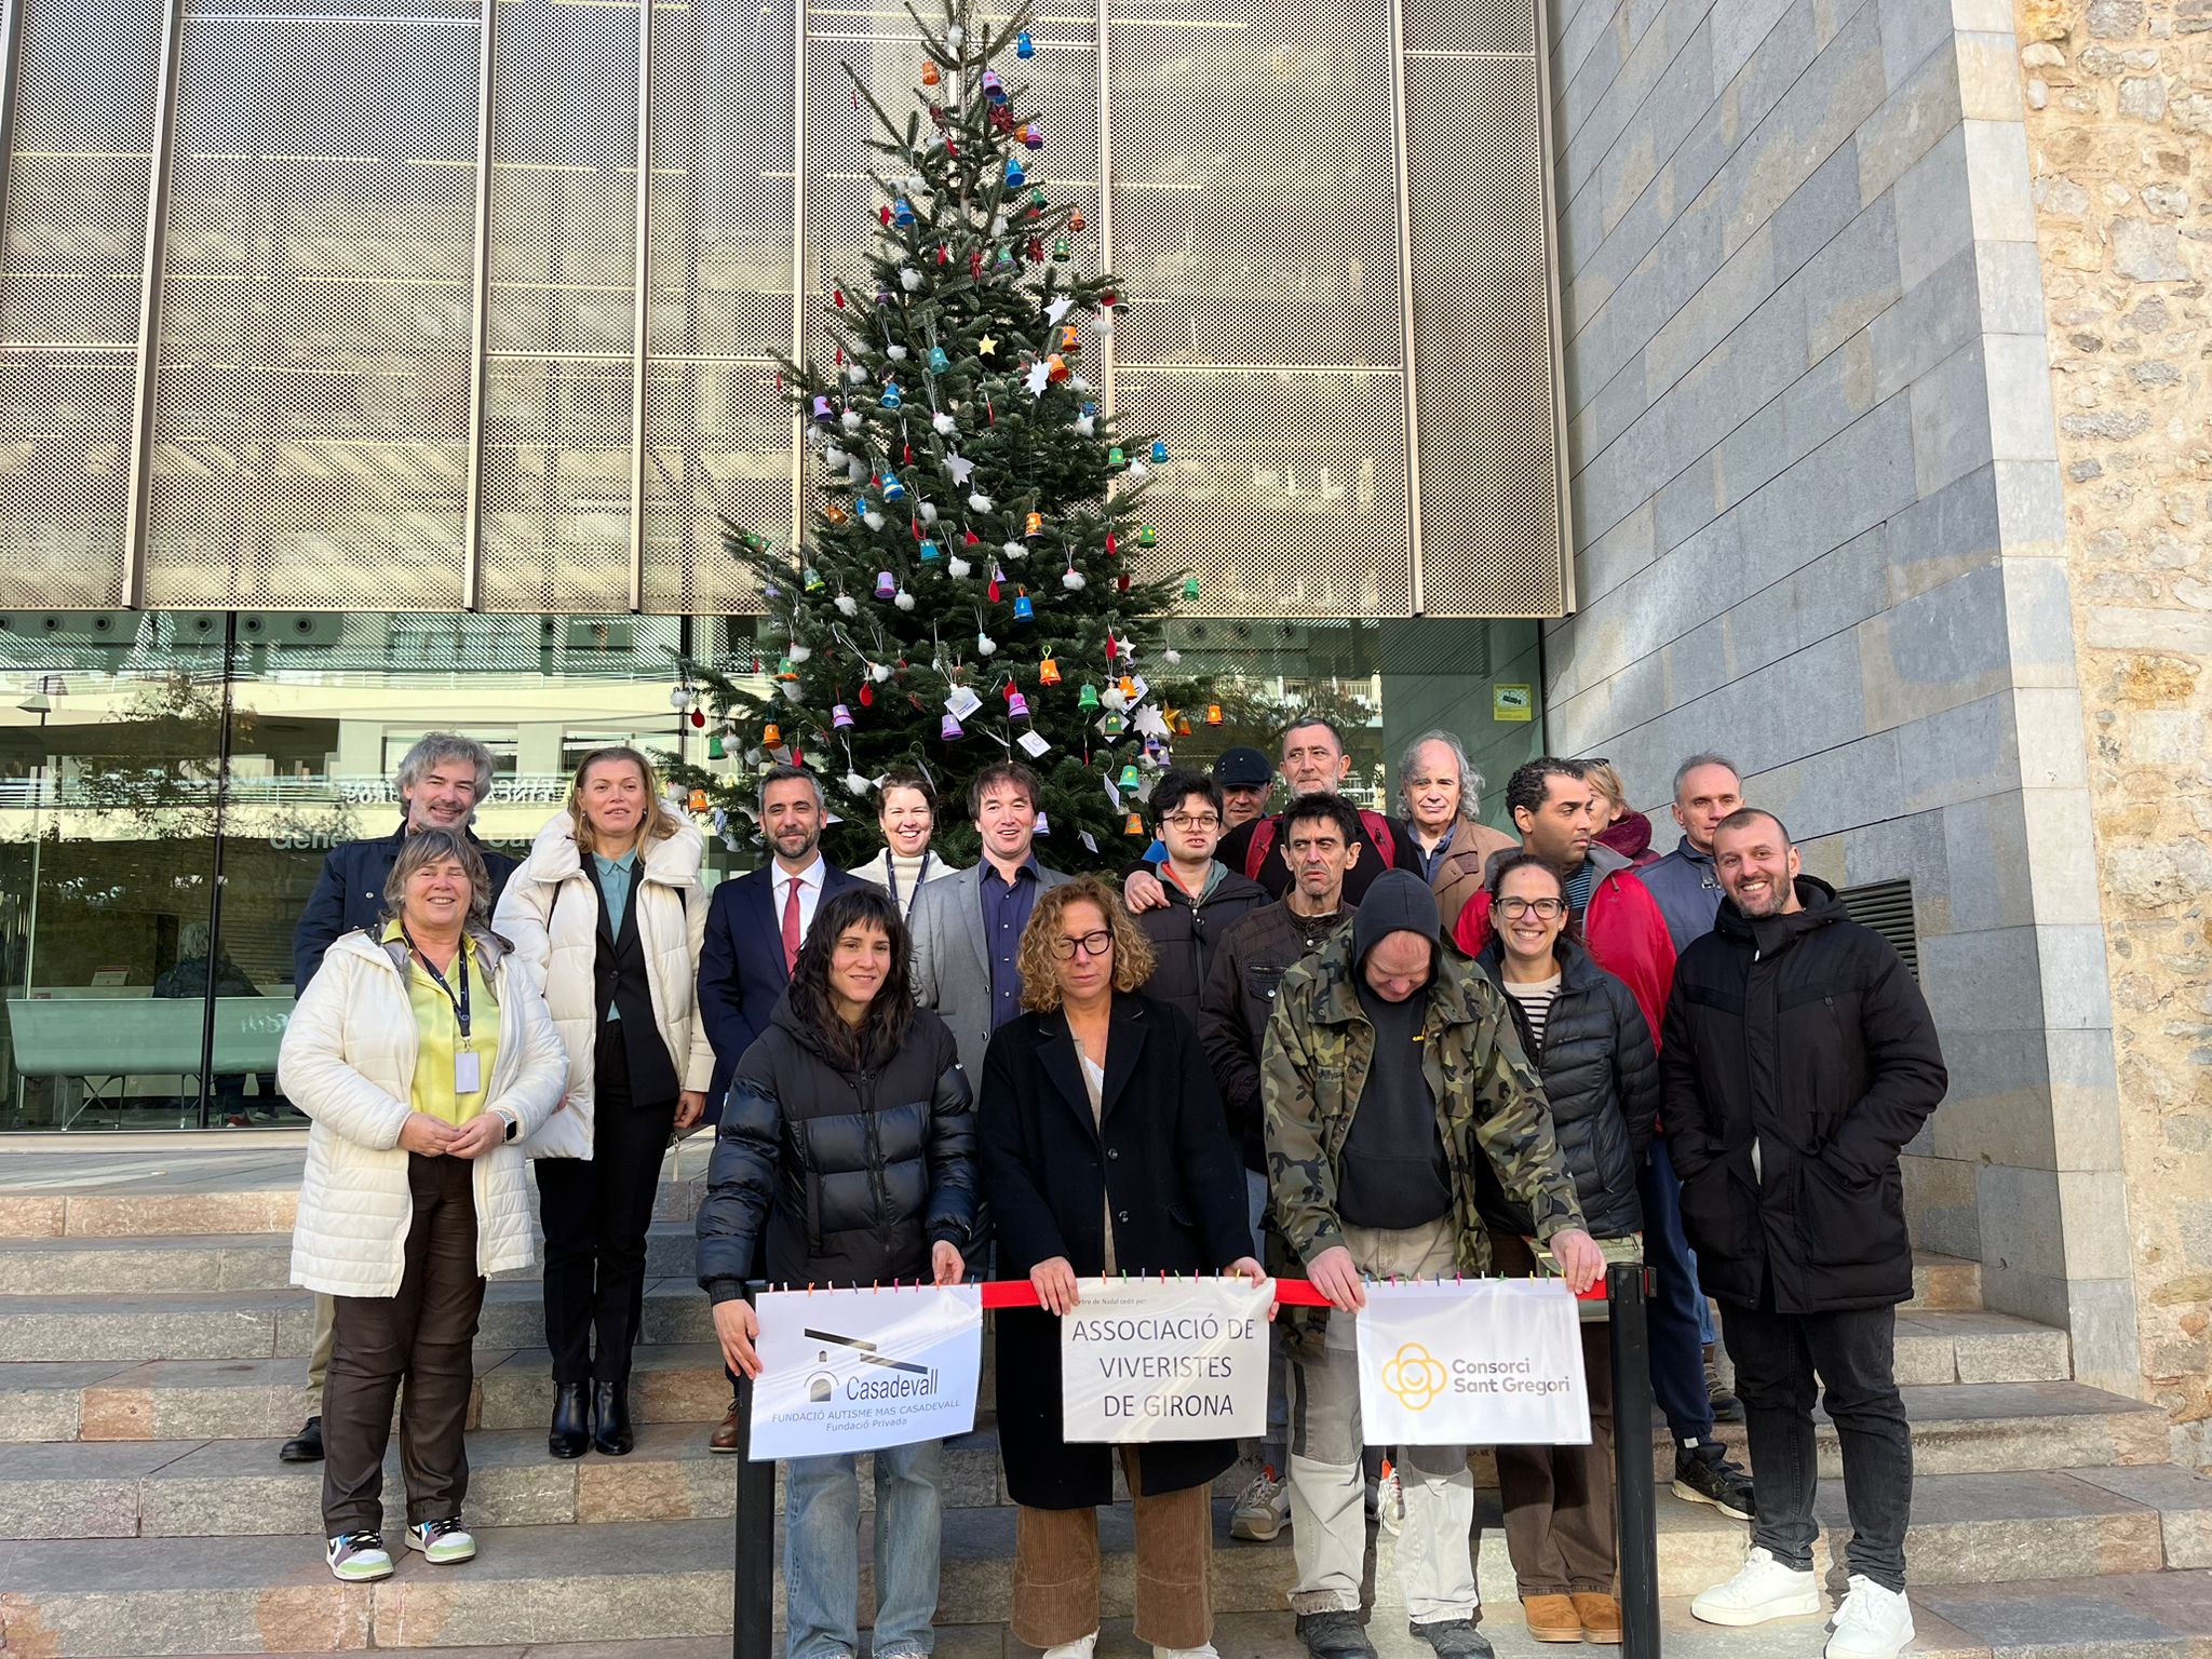
<path fill-rule="evenodd" d="M 1358 1336 L 1369 1447 L 1590 1444 L 1579 1321 L 1559 1279 L 1367 1285 Z"/>

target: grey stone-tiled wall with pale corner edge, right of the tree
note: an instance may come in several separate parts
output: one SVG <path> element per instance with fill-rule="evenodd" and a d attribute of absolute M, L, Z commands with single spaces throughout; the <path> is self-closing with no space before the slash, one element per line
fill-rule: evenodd
<path fill-rule="evenodd" d="M 1546 719 L 1646 807 L 1732 752 L 1814 874 L 1913 880 L 1951 1062 L 1907 1157 L 1918 1239 L 2132 1391 L 2011 7 L 1553 0 L 1579 611 Z"/>

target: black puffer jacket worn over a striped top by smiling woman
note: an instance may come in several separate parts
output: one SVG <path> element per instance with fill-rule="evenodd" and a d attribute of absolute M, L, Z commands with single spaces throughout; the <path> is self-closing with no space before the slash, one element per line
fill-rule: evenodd
<path fill-rule="evenodd" d="M 1551 1102 L 1551 1133 L 1575 1177 L 1575 1197 L 1593 1239 L 1626 1239 L 1644 1228 L 1637 1199 L 1637 1168 L 1652 1139 L 1659 1113 L 1659 1055 L 1652 1029 L 1635 993 L 1562 938 L 1559 995 L 1544 1015 L 1537 1046 L 1520 1002 L 1506 995 L 1522 1048 L 1544 1079 Z M 1504 993 L 1504 945 L 1493 936 L 1475 964 Z M 1498 1186 L 1489 1159 L 1475 1168 L 1482 1219 L 1500 1232 L 1533 1234 L 1528 1212 Z"/>

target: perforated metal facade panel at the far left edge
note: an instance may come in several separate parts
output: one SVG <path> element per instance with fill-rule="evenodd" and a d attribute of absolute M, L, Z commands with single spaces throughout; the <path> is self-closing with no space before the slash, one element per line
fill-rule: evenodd
<path fill-rule="evenodd" d="M 0 602 L 122 602 L 157 0 L 18 0 L 0 226 Z"/>

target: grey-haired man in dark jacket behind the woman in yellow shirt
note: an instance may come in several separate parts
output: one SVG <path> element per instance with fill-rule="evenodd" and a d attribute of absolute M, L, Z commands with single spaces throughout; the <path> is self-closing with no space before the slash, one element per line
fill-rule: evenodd
<path fill-rule="evenodd" d="M 323 874 L 314 880 L 307 909 L 299 914 L 292 929 L 292 993 L 303 995 L 307 980 L 323 967 L 323 953 L 345 933 L 367 927 L 385 911 L 385 878 L 400 856 L 400 843 L 416 830 L 462 830 L 469 841 L 469 821 L 478 803 L 491 792 L 491 750 L 473 737 L 456 732 L 427 732 L 400 759 L 400 827 L 374 841 L 343 841 L 323 858 Z M 507 878 L 515 874 L 515 860 L 476 841 L 476 852 L 484 858 L 484 874 L 491 876 L 491 894 L 484 914 L 500 902 Z M 314 1298 L 314 1347 L 307 1356 L 307 1391 L 316 1398 L 316 1411 L 296 1436 L 276 1451 L 285 1462 L 323 1460 L 323 1374 L 330 1367 L 330 1321 L 334 1303 L 330 1296 Z"/>

